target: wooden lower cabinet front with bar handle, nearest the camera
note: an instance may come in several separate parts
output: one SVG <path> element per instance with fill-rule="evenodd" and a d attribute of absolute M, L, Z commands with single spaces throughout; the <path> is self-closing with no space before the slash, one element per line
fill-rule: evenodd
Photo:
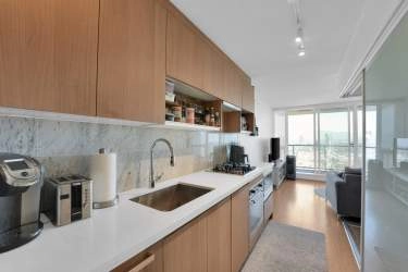
<path fill-rule="evenodd" d="M 162 272 L 163 243 L 159 242 L 144 252 L 122 263 L 112 272 Z"/>

